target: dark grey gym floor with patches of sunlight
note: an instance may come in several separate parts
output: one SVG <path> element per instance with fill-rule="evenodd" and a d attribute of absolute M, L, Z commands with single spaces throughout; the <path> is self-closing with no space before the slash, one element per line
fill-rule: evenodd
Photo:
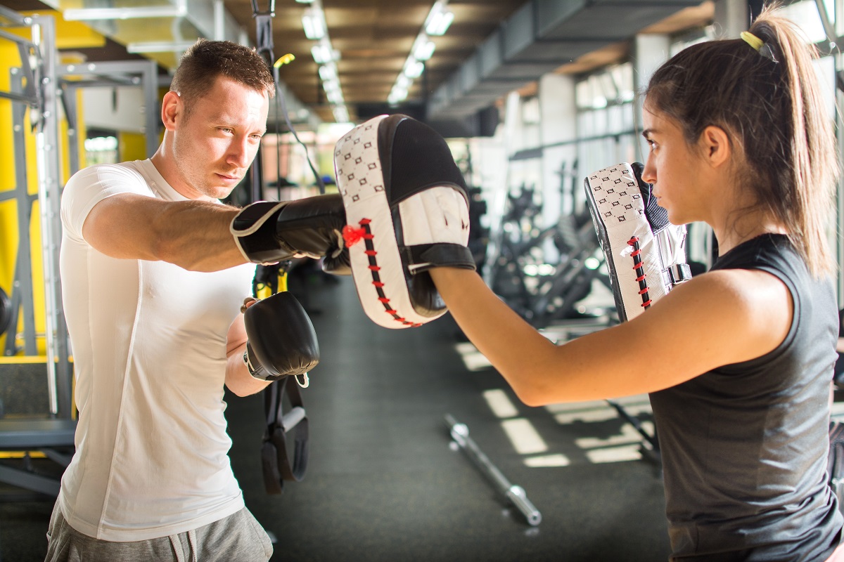
<path fill-rule="evenodd" d="M 657 463 L 607 403 L 528 408 L 447 315 L 384 329 L 348 278 L 310 274 L 291 290 L 322 354 L 303 391 L 305 479 L 264 491 L 262 397 L 227 396 L 230 458 L 246 506 L 277 539 L 273 561 L 668 559 Z M 647 397 L 625 404 L 648 428 Z M 446 415 L 524 488 L 538 526 L 452 444 Z M 0 502 L 0 560 L 43 560 L 51 509 L 50 499 Z"/>

